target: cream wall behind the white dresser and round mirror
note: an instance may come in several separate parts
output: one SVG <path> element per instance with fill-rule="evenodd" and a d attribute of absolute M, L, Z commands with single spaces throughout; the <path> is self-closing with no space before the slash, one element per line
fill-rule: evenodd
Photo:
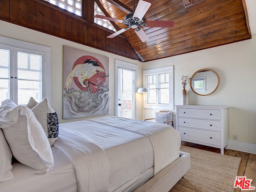
<path fill-rule="evenodd" d="M 227 105 L 228 139 L 256 144 L 256 38 L 179 56 L 145 62 L 143 69 L 174 65 L 174 104 L 181 104 L 181 77 L 202 68 L 214 70 L 220 79 L 211 95 L 198 96 L 186 86 L 187 104 Z M 174 111 L 175 112 L 175 111 Z M 145 109 L 145 118 L 154 110 Z"/>

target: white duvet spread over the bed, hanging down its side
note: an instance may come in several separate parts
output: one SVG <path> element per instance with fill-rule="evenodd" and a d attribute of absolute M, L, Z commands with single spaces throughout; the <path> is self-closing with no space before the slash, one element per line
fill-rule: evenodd
<path fill-rule="evenodd" d="M 79 192 L 112 192 L 176 160 L 180 136 L 165 124 L 103 117 L 60 124 L 54 147 L 72 162 Z"/>

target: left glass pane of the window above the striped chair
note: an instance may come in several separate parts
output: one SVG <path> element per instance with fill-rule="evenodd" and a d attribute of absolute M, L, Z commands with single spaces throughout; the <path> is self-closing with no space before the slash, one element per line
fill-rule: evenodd
<path fill-rule="evenodd" d="M 146 76 L 147 88 L 149 92 L 147 93 L 147 103 L 156 103 L 156 75 Z"/>

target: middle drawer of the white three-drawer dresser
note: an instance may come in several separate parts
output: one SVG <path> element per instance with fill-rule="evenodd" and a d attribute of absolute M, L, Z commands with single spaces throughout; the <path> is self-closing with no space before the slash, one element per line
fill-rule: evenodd
<path fill-rule="evenodd" d="M 220 121 L 216 120 L 214 121 L 179 117 L 178 126 L 220 131 Z"/>

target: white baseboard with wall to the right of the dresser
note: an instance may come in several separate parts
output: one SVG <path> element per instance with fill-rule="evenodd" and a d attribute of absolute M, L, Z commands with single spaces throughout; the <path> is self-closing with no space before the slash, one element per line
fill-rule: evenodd
<path fill-rule="evenodd" d="M 228 149 L 256 154 L 256 144 L 228 140 Z"/>

